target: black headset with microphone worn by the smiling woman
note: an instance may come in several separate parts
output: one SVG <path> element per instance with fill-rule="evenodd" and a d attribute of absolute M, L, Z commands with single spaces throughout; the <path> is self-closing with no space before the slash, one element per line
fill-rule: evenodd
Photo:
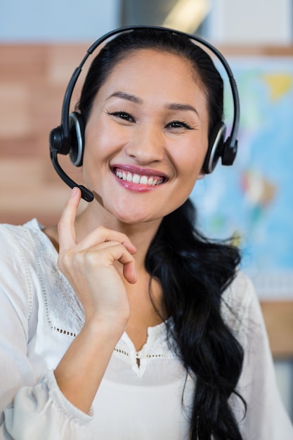
<path fill-rule="evenodd" d="M 197 41 L 198 43 L 202 44 L 202 46 L 208 48 L 212 53 L 214 53 L 214 55 L 216 55 L 216 58 L 220 60 L 228 75 L 232 91 L 234 107 L 233 125 L 230 136 L 228 136 L 227 138 L 226 124 L 223 121 L 219 122 L 218 124 L 216 124 L 216 127 L 213 127 L 213 129 L 211 129 L 211 134 L 209 136 L 209 146 L 203 165 L 204 172 L 206 174 L 211 173 L 214 170 L 214 167 L 216 167 L 216 163 L 218 162 L 219 157 L 221 157 L 221 162 L 223 165 L 232 165 L 236 157 L 237 131 L 240 121 L 240 103 L 237 85 L 226 58 L 224 58 L 223 55 L 210 43 L 200 37 L 196 37 L 193 34 L 186 34 L 185 32 L 159 26 L 137 25 L 120 27 L 119 29 L 108 32 L 107 34 L 103 35 L 103 37 L 100 37 L 98 40 L 96 40 L 87 50 L 82 62 L 74 70 L 70 82 L 67 85 L 65 96 L 63 98 L 61 124 L 51 131 L 49 137 L 50 157 L 53 163 L 53 167 L 56 169 L 56 172 L 58 173 L 60 178 L 63 179 L 63 181 L 65 181 L 65 183 L 67 183 L 70 188 L 73 188 L 74 186 L 78 186 L 80 188 L 80 190 L 82 191 L 82 198 L 84 198 L 84 200 L 86 200 L 87 202 L 91 202 L 93 200 L 93 193 L 91 193 L 88 188 L 85 188 L 83 185 L 78 185 L 72 179 L 70 179 L 70 177 L 60 167 L 57 157 L 58 154 L 69 154 L 70 160 L 76 167 L 80 167 L 82 165 L 85 127 L 82 115 L 80 115 L 78 112 L 70 113 L 70 101 L 72 98 L 72 91 L 77 82 L 77 78 L 79 77 L 80 72 L 82 72 L 82 67 L 84 66 L 87 58 L 89 58 L 91 53 L 93 53 L 93 51 L 95 51 L 95 49 L 100 46 L 103 41 L 114 35 L 121 34 L 122 32 L 131 32 L 136 29 L 155 29 L 165 32 L 171 32 L 172 34 L 184 35 L 185 37 Z"/>

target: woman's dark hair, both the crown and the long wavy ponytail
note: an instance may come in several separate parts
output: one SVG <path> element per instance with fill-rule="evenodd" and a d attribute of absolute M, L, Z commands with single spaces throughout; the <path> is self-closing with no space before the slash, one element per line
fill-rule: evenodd
<path fill-rule="evenodd" d="M 211 58 L 188 37 L 160 30 L 124 32 L 101 49 L 77 105 L 85 122 L 96 93 L 117 63 L 145 48 L 188 60 L 207 97 L 209 131 L 221 122 L 223 80 Z M 240 253 L 229 242 L 204 238 L 195 220 L 189 199 L 165 216 L 148 249 L 145 267 L 162 285 L 164 309 L 172 318 L 167 321 L 170 347 L 194 378 L 190 439 L 241 440 L 228 399 L 231 394 L 239 396 L 236 387 L 243 350 L 221 316 L 221 295 L 235 277 Z"/>

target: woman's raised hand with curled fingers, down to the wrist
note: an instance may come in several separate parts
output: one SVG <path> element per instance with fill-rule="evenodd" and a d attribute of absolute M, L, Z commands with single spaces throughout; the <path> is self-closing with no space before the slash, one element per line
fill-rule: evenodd
<path fill-rule="evenodd" d="M 126 325 L 129 302 L 115 262 L 122 264 L 125 280 L 136 283 L 136 247 L 123 233 L 103 226 L 77 242 L 74 221 L 80 199 L 79 188 L 73 188 L 58 223 L 58 267 L 82 302 L 86 321 Z"/>

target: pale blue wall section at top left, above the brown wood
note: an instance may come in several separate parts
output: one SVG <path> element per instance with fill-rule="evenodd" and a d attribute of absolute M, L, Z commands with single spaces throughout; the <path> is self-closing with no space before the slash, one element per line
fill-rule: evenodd
<path fill-rule="evenodd" d="M 0 41 L 94 41 L 119 24 L 119 0 L 0 2 Z"/>

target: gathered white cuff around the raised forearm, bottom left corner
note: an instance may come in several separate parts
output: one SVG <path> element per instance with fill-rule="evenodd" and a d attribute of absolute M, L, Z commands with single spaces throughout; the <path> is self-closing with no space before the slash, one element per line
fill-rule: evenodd
<path fill-rule="evenodd" d="M 1 440 L 90 440 L 91 415 L 75 408 L 60 392 L 53 370 L 33 387 L 16 392 L 13 405 L 3 412 Z"/>

